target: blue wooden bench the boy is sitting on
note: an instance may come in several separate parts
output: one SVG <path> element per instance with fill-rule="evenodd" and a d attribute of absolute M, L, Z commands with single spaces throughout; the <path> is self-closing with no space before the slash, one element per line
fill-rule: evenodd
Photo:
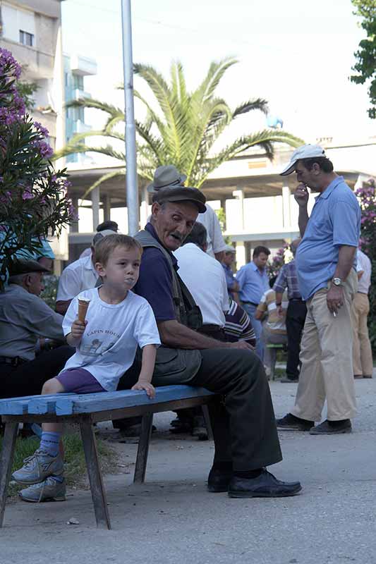
<path fill-rule="evenodd" d="M 60 393 L 54 396 L 0 400 L 0 415 L 5 423 L 0 458 L 0 527 L 4 521 L 6 494 L 20 422 L 41 424 L 71 421 L 79 424 L 97 527 L 111 529 L 92 424 L 111 419 L 142 416 L 133 479 L 135 483 L 142 483 L 145 480 L 153 414 L 196 405 L 202 405 L 207 410 L 207 403 L 216 397 L 218 396 L 205 388 L 164 386 L 156 389 L 155 398 L 152 400 L 147 398 L 145 391 L 131 390 L 85 395 Z"/>

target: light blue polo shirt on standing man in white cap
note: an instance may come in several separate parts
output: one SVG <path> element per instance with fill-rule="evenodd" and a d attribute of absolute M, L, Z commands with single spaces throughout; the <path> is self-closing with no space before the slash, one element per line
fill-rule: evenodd
<path fill-rule="evenodd" d="M 339 247 L 358 247 L 359 234 L 358 200 L 343 176 L 338 176 L 316 197 L 296 252 L 298 284 L 303 300 L 312 298 L 320 288 L 326 288 L 336 270 Z"/>

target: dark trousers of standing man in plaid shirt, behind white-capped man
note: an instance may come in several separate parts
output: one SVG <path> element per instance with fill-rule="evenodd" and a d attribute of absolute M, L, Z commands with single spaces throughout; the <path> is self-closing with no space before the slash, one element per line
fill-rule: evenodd
<path fill-rule="evenodd" d="M 286 312 L 287 331 L 287 364 L 286 376 L 290 380 L 299 378 L 299 353 L 301 352 L 301 338 L 307 315 L 307 307 L 303 300 L 289 300 Z"/>

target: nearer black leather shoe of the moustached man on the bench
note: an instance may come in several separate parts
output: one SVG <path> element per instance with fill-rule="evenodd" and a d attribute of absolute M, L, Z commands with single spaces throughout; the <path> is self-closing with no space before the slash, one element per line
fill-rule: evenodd
<path fill-rule="evenodd" d="M 257 478 L 232 477 L 229 483 L 229 497 L 284 498 L 295 496 L 301 489 L 301 482 L 281 482 L 273 474 L 263 469 Z"/>

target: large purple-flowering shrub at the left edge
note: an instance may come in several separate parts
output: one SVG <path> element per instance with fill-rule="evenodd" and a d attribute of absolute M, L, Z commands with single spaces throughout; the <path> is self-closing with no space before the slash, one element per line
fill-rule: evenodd
<path fill-rule="evenodd" d="M 0 49 L 0 290 L 20 249 L 35 252 L 40 237 L 75 219 L 65 169 L 55 171 L 48 131 L 25 114 L 17 90 L 20 66 Z"/>

